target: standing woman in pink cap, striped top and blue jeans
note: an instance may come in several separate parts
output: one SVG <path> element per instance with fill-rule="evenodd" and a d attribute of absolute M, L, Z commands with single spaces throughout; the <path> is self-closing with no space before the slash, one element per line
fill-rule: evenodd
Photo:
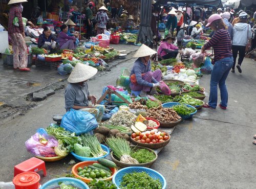
<path fill-rule="evenodd" d="M 210 77 L 210 96 L 208 104 L 205 108 L 215 109 L 218 101 L 218 85 L 221 92 L 221 102 L 219 106 L 222 109 L 227 109 L 228 93 L 226 87 L 226 79 L 233 65 L 233 54 L 231 50 L 231 39 L 226 30 L 225 23 L 219 14 L 212 14 L 206 27 L 215 31 L 212 38 L 202 46 L 202 52 L 214 48 L 214 68 L 211 71 Z"/>

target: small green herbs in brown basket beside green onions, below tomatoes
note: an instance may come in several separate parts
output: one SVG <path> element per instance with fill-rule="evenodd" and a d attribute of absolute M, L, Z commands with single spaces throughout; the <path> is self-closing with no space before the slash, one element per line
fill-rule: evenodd
<path fill-rule="evenodd" d="M 137 159 L 137 161 L 139 161 L 139 163 L 151 162 L 156 158 L 156 154 L 147 149 L 135 150 L 131 153 L 131 156 L 134 159 Z"/>

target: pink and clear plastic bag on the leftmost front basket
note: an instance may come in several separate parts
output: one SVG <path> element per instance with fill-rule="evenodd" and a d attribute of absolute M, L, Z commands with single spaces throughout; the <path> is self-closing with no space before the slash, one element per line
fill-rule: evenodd
<path fill-rule="evenodd" d="M 41 128 L 26 141 L 25 146 L 35 156 L 51 157 L 56 156 L 54 148 L 58 146 L 58 140 L 46 134 L 46 131 L 44 132 L 44 129 Z"/>

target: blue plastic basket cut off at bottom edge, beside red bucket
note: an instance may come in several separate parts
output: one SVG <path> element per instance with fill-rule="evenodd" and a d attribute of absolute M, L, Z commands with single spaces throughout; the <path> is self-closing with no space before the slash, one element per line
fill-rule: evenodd
<path fill-rule="evenodd" d="M 63 177 L 63 178 L 56 178 L 53 180 L 49 180 L 45 184 L 43 184 L 40 189 L 51 189 L 51 188 L 59 188 L 59 182 L 65 183 L 67 185 L 72 185 L 74 187 L 77 187 L 79 189 L 90 189 L 90 187 L 84 183 L 83 181 L 76 179 L 76 178 L 68 178 L 68 177 Z"/>

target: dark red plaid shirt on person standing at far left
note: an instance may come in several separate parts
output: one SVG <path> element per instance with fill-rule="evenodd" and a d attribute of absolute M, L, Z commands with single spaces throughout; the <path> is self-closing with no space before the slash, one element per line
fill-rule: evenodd
<path fill-rule="evenodd" d="M 16 27 L 13 25 L 13 19 L 14 17 L 18 18 L 18 24 L 19 27 Z M 8 33 L 12 34 L 12 33 L 23 33 L 24 32 L 24 28 L 23 28 L 23 23 L 22 23 L 22 8 L 18 7 L 18 6 L 12 6 L 10 8 L 10 13 L 9 13 L 9 21 L 8 21 Z"/>

